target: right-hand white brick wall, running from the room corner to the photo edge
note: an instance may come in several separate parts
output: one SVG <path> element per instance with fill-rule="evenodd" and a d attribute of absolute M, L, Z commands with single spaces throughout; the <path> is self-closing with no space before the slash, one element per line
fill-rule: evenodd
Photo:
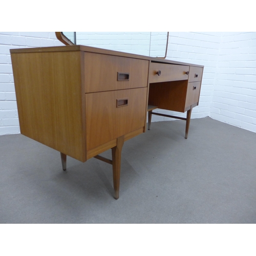
<path fill-rule="evenodd" d="M 210 117 L 256 132 L 256 33 L 221 37 Z"/>

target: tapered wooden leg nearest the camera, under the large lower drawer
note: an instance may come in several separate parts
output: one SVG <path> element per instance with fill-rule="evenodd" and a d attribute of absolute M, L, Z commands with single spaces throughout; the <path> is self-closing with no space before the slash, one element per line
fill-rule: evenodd
<path fill-rule="evenodd" d="M 124 136 L 117 138 L 117 145 L 112 148 L 113 183 L 114 183 L 115 199 L 119 198 L 121 152 L 122 152 L 123 142 L 124 142 Z"/>

